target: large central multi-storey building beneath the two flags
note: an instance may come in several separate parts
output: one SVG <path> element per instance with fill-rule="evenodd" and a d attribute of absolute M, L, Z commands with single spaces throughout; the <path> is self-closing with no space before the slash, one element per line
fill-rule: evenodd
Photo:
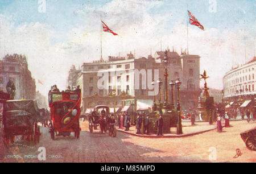
<path fill-rule="evenodd" d="M 168 69 L 168 96 L 171 96 L 171 87 L 169 82 L 180 78 L 183 82 L 181 85 L 181 103 L 182 107 L 195 109 L 197 106 L 197 98 L 200 96 L 200 57 L 197 55 L 179 55 L 175 51 L 167 51 L 168 63 L 163 63 L 164 51 L 156 52 L 158 57 L 154 58 L 151 55 L 135 59 L 132 53 L 126 57 L 109 56 L 108 61 L 99 60 L 93 63 L 84 63 L 81 66 L 81 71 L 76 71 L 72 66 L 69 71 L 69 85 L 80 86 L 82 97 L 112 96 L 130 96 L 136 101 L 151 105 L 154 100 L 154 91 L 152 81 L 158 81 L 159 78 L 163 84 L 160 88 L 160 93 L 156 95 L 156 100 L 164 101 L 165 84 L 164 84 L 164 67 Z M 75 72 L 75 74 L 74 74 Z M 101 81 L 105 76 L 106 81 Z M 98 76 L 99 75 L 99 76 Z M 75 78 L 73 78 L 75 77 Z M 75 83 L 76 82 L 76 83 Z M 99 88 L 103 86 L 103 88 Z M 159 96 L 161 94 L 161 96 Z M 129 98 L 129 97 L 128 97 Z M 170 103 L 171 97 L 168 98 Z M 177 90 L 174 93 L 175 103 L 177 102 Z M 102 104 L 104 102 L 101 102 Z M 125 102 L 123 102 L 125 103 Z M 134 102 L 131 102 L 134 103 Z M 98 105 L 99 103 L 97 103 Z M 105 103 L 106 104 L 106 103 Z M 83 101 L 82 106 L 84 111 L 93 105 Z"/>

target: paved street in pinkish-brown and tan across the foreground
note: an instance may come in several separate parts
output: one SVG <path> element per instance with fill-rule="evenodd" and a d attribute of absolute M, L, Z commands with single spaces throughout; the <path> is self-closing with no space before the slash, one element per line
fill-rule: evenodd
<path fill-rule="evenodd" d="M 73 135 L 51 140 L 48 129 L 41 128 L 42 136 L 36 146 L 16 138 L 6 148 L 0 143 L 0 162 L 42 162 L 38 148 L 46 148 L 46 162 L 209 162 L 209 148 L 216 148 L 216 161 L 256 162 L 256 152 L 247 150 L 240 132 L 256 127 L 256 122 L 230 122 L 224 132 L 216 130 L 184 138 L 141 138 L 117 132 L 117 137 L 90 134 L 88 122 L 81 122 L 80 139 Z M 236 149 L 242 156 L 234 159 Z M 16 156 L 14 156 L 16 155 Z M 43 161 L 44 162 L 44 161 Z"/>

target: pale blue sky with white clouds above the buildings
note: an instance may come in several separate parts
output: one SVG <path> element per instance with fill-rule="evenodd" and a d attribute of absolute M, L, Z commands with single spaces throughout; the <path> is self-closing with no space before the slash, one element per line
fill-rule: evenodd
<path fill-rule="evenodd" d="M 255 6 L 252 0 L 0 0 L 0 56 L 26 55 L 36 90 L 47 96 L 53 84 L 66 88 L 71 65 L 100 59 L 101 20 L 118 34 L 102 34 L 105 60 L 130 51 L 154 56 L 161 40 L 162 49 L 180 53 L 189 9 L 205 28 L 188 25 L 189 53 L 201 57 L 208 86 L 222 89 L 224 74 L 255 55 Z"/>

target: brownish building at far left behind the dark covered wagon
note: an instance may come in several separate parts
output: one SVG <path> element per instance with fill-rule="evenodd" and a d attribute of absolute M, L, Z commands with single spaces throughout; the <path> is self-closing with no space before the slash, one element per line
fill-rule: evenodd
<path fill-rule="evenodd" d="M 7 82 L 13 79 L 16 94 L 15 99 L 35 100 L 35 79 L 28 70 L 27 57 L 22 55 L 6 55 L 0 60 L 0 90 L 6 91 Z"/>

